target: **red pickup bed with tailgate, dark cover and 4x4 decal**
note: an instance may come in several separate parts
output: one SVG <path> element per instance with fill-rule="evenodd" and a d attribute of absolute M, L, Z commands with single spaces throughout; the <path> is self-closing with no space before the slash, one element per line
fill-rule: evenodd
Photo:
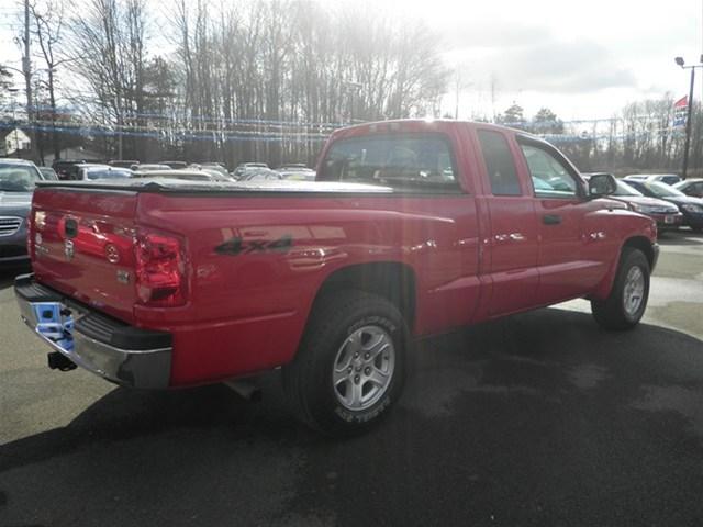
<path fill-rule="evenodd" d="M 288 362 L 321 285 L 360 262 L 388 280 L 413 277 L 416 334 L 466 324 L 478 302 L 477 210 L 460 193 L 158 178 L 41 184 L 33 206 L 36 280 L 118 321 L 172 334 L 174 385 Z M 179 240 L 182 303 L 140 298 L 144 233 Z"/>

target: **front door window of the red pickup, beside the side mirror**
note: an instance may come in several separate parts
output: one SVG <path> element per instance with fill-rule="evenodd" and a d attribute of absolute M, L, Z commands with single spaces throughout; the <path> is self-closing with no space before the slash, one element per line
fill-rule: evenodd
<path fill-rule="evenodd" d="M 537 198 L 573 199 L 578 195 L 577 182 L 561 160 L 533 145 L 521 144 L 520 147 Z"/>

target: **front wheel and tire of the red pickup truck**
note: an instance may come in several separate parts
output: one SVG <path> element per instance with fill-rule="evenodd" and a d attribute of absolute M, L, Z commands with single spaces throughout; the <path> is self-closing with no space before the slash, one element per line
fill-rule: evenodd
<path fill-rule="evenodd" d="M 595 322 L 612 330 L 635 327 L 647 309 L 649 274 L 649 261 L 644 253 L 624 247 L 611 294 L 605 300 L 591 301 Z"/>

